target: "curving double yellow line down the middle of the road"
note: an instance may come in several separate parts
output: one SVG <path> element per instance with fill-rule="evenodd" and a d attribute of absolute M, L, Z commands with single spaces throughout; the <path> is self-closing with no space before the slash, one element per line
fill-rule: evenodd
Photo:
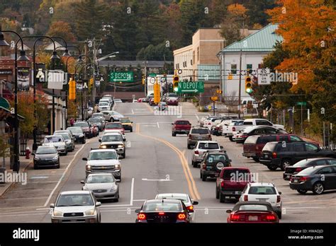
<path fill-rule="evenodd" d="M 189 165 L 188 165 L 188 160 L 186 160 L 186 157 L 184 156 L 184 153 L 182 153 L 177 147 L 175 147 L 173 144 L 169 143 L 168 141 L 165 141 L 164 139 L 159 139 L 156 138 L 154 136 L 147 136 L 145 134 L 141 134 L 140 133 L 140 124 L 137 124 L 135 133 L 140 135 L 140 136 L 144 136 L 146 138 L 149 139 L 153 139 L 155 141 L 159 141 L 162 144 L 167 145 L 169 148 L 172 148 L 173 151 L 175 151 L 177 153 L 177 156 L 179 156 L 179 159 L 181 160 L 181 164 L 182 164 L 182 168 L 184 171 L 184 175 L 186 176 L 186 182 L 188 183 L 188 188 L 189 188 L 189 193 L 191 195 L 192 199 L 201 199 L 201 196 L 198 193 L 193 175 L 191 175 L 191 171 L 189 169 Z"/>

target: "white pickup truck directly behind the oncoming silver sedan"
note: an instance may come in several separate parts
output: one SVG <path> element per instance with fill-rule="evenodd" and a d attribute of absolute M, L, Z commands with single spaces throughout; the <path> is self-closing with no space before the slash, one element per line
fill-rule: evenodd
<path fill-rule="evenodd" d="M 114 149 L 93 149 L 86 160 L 86 177 L 91 173 L 112 173 L 116 179 L 121 180 L 121 163 Z"/>

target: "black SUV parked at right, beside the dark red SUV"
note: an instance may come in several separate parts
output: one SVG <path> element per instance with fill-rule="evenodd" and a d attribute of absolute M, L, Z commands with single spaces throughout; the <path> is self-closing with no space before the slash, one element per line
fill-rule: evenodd
<path fill-rule="evenodd" d="M 294 165 L 299 160 L 317 157 L 335 158 L 336 152 L 306 142 L 269 142 L 262 149 L 259 162 L 267 165 L 269 170 L 281 168 L 284 171 L 287 166 Z"/>

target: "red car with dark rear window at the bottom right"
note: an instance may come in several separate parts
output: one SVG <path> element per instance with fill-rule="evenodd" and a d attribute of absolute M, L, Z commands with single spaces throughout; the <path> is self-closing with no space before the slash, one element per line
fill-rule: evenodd
<path fill-rule="evenodd" d="M 267 201 L 239 201 L 230 213 L 228 223 L 279 223 L 279 218 Z"/>

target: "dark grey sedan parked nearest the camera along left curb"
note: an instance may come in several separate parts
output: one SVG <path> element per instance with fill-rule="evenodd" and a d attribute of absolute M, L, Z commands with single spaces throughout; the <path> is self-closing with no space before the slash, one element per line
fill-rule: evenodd
<path fill-rule="evenodd" d="M 34 156 L 34 169 L 38 168 L 60 168 L 60 155 L 54 146 L 38 146 Z"/>

